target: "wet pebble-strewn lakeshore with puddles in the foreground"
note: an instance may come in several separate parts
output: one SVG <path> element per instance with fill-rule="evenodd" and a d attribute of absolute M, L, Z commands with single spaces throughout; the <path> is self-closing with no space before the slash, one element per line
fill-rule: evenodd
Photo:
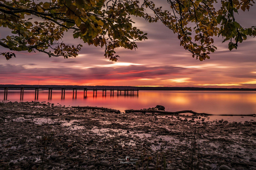
<path fill-rule="evenodd" d="M 256 169 L 246 122 L 0 103 L 0 169 Z"/>

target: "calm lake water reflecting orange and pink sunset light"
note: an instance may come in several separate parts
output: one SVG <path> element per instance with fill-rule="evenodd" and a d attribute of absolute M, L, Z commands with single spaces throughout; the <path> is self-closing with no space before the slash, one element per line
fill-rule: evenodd
<path fill-rule="evenodd" d="M 4 92 L 0 91 L 0 100 L 4 98 Z M 61 99 L 61 91 L 52 92 L 52 99 L 48 100 L 48 90 L 39 91 L 39 98 L 35 100 L 34 90 L 25 90 L 24 98 L 20 100 L 20 91 L 8 90 L 7 101 L 39 101 L 58 103 L 65 106 L 98 106 L 118 109 L 123 112 L 126 109 L 143 109 L 163 105 L 166 111 L 193 110 L 209 114 L 256 114 L 255 91 L 139 91 L 134 96 L 102 96 L 102 91 L 87 92 L 87 98 L 83 98 L 83 91 L 77 91 L 77 98 L 73 99 L 73 92 L 66 90 L 65 99 Z"/>

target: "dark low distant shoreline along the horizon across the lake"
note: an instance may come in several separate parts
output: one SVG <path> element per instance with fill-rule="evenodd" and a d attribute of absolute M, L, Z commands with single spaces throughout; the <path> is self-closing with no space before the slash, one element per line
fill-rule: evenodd
<path fill-rule="evenodd" d="M 61 90 L 61 88 L 88 88 L 88 89 L 134 89 L 134 90 L 159 90 L 159 91 L 256 91 L 256 88 L 212 88 L 212 87 L 136 87 L 136 86 L 78 86 L 78 85 L 13 85 L 2 84 L 0 90 L 4 87 L 9 90 L 20 90 L 21 87 L 26 87 L 25 90 L 34 90 L 34 88 L 54 88 L 54 90 Z M 68 89 L 67 89 L 68 90 Z"/>

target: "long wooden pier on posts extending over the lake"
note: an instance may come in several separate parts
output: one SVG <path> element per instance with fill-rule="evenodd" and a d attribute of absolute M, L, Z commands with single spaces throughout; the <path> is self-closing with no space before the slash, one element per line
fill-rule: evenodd
<path fill-rule="evenodd" d="M 8 89 L 11 88 L 20 88 L 20 99 L 23 99 L 24 96 L 24 89 L 33 89 L 34 87 L 0 87 L 4 89 L 4 100 L 7 100 L 8 96 Z M 117 96 L 134 96 L 134 91 L 137 92 L 137 96 L 139 95 L 139 89 L 87 89 L 87 88 L 60 88 L 60 87 L 37 87 L 35 89 L 35 100 L 38 99 L 39 91 L 43 89 L 48 89 L 48 99 L 52 99 L 52 90 L 53 89 L 61 89 L 61 99 L 65 99 L 65 90 L 70 89 L 73 90 L 73 99 L 77 98 L 77 90 L 83 90 L 83 96 L 84 98 L 87 98 L 87 91 L 93 91 L 93 97 L 97 97 L 97 92 L 102 91 L 102 96 L 107 96 L 107 91 L 110 91 L 110 96 L 114 96 L 114 93 L 116 92 Z"/>

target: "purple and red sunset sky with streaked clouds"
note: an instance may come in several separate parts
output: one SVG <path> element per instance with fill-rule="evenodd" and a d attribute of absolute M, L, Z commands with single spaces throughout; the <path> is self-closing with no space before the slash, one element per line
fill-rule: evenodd
<path fill-rule="evenodd" d="M 165 0 L 158 6 L 167 5 Z M 239 11 L 236 21 L 244 27 L 256 25 L 256 7 Z M 180 46 L 177 35 L 162 23 L 147 23 L 134 18 L 134 26 L 148 33 L 148 40 L 137 42 L 138 49 L 119 48 L 117 62 L 104 57 L 104 48 L 83 44 L 65 34 L 66 44 L 82 43 L 77 57 L 48 57 L 39 52 L 15 52 L 16 58 L 0 57 L 0 84 L 110 85 L 165 87 L 256 88 L 256 38 L 238 44 L 229 51 L 222 38 L 215 37 L 217 51 L 204 61 Z M 0 38 L 8 30 L 0 27 Z M 0 52 L 8 49 L 0 47 Z"/>

